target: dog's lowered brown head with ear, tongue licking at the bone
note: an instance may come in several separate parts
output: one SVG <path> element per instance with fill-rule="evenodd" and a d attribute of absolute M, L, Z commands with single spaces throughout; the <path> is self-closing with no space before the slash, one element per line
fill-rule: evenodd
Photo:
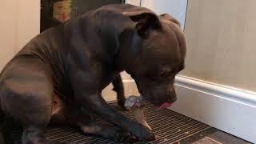
<path fill-rule="evenodd" d="M 126 71 L 147 102 L 166 108 L 176 101 L 174 78 L 184 69 L 186 39 L 179 22 L 169 14 L 124 12 L 134 23 Z M 127 45 L 126 45 L 127 46 Z"/>

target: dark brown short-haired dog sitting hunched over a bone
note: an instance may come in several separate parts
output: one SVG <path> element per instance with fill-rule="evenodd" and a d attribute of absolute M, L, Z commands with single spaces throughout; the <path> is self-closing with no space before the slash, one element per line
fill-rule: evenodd
<path fill-rule="evenodd" d="M 113 82 L 122 106 L 119 73 L 125 70 L 147 102 L 170 106 L 185 57 L 186 38 L 169 14 L 128 4 L 102 6 L 38 34 L 6 64 L 1 113 L 22 126 L 24 144 L 61 143 L 44 136 L 50 122 L 120 141 L 151 141 L 152 130 L 118 113 L 101 92 Z M 95 118 L 114 126 L 104 128 Z"/>

